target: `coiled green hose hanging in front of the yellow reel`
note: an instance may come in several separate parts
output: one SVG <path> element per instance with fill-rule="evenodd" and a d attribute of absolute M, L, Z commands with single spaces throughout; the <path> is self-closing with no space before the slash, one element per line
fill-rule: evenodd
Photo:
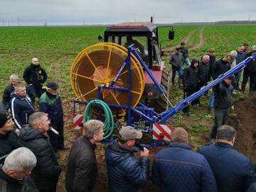
<path fill-rule="evenodd" d="M 114 130 L 114 119 L 110 107 L 102 100 L 91 100 L 85 107 L 84 112 L 84 124 L 92 117 L 92 107 L 100 107 L 105 113 L 105 122 L 103 127 L 104 136 L 103 139 L 110 137 Z"/>

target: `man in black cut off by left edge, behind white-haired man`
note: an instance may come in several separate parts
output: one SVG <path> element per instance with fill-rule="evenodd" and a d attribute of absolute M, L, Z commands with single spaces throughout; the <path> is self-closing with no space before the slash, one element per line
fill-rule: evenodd
<path fill-rule="evenodd" d="M 18 148 L 18 135 L 13 131 L 14 122 L 6 113 L 0 113 L 0 159 Z"/>

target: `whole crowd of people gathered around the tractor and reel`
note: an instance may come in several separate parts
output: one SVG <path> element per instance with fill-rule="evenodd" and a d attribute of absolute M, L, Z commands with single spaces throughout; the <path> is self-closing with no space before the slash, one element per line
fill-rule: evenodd
<path fill-rule="evenodd" d="M 251 52 L 245 48 L 246 43 L 219 60 L 210 48 L 200 60 L 193 58 L 190 62 L 188 49 L 181 43 L 170 58 L 173 85 L 178 72 L 178 85 L 183 87 L 184 97 L 192 95 L 207 85 L 210 78 L 215 80 L 236 63 L 256 53 L 256 46 L 252 46 Z M 184 63 L 187 65 L 185 69 Z M 250 92 L 255 90 L 255 68 L 255 60 L 246 66 L 242 91 L 245 91 L 248 78 Z M 149 179 L 161 191 L 256 190 L 255 166 L 247 156 L 233 148 L 236 131 L 225 125 L 240 75 L 230 75 L 213 87 L 208 104 L 208 110 L 215 109 L 211 144 L 201 146 L 197 151 L 191 150 L 186 129 L 177 127 L 171 132 L 170 146 L 154 156 L 150 169 L 149 149 L 135 147 L 142 132 L 133 127 L 122 127 L 118 138 L 105 148 L 109 190 L 139 191 Z M 47 82 L 46 71 L 37 58 L 33 58 L 24 70 L 23 80 L 26 85 L 17 75 L 10 76 L 0 105 L 0 191 L 56 191 L 62 171 L 58 151 L 68 149 L 64 144 L 59 87 L 56 82 Z M 46 91 L 43 92 L 45 82 Z M 191 103 L 193 107 L 198 104 L 200 97 Z M 183 111 L 189 115 L 189 106 Z M 87 121 L 82 136 L 73 143 L 65 175 L 66 191 L 93 191 L 97 180 L 95 149 L 97 142 L 102 141 L 103 127 L 99 120 Z M 138 151 L 139 159 L 135 156 Z"/>

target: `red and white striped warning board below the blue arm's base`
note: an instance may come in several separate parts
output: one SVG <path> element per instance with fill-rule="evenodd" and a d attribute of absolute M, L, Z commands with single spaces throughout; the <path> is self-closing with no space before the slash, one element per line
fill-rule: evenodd
<path fill-rule="evenodd" d="M 174 129 L 169 124 L 153 124 L 153 139 L 171 141 L 171 131 Z"/>

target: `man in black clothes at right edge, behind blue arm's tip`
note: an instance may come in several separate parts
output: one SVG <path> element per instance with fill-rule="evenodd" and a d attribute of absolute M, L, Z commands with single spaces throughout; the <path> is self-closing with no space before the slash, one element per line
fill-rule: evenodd
<path fill-rule="evenodd" d="M 252 52 L 247 53 L 247 57 L 252 54 L 256 54 L 256 46 L 252 46 Z M 255 91 L 256 88 L 256 60 L 251 60 L 245 67 L 243 78 L 242 78 L 242 92 L 245 91 L 245 86 L 248 78 L 250 78 L 250 89 L 249 91 Z"/>

